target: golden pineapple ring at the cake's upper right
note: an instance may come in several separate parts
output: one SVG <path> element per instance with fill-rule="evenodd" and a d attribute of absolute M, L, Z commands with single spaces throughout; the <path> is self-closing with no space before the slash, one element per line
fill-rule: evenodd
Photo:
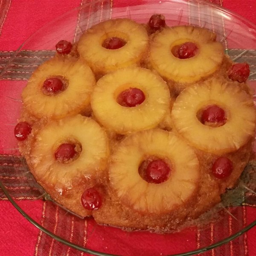
<path fill-rule="evenodd" d="M 192 83 L 214 73 L 224 58 L 221 43 L 214 33 L 193 26 L 175 26 L 163 29 L 150 45 L 150 62 L 157 72 L 167 79 Z M 176 58 L 172 48 L 185 42 L 193 42 L 198 53 L 187 59 Z"/>

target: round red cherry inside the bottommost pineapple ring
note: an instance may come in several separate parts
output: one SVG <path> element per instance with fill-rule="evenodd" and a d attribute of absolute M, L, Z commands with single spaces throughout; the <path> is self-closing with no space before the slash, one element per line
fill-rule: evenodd
<path fill-rule="evenodd" d="M 166 181 L 170 175 L 171 169 L 168 164 L 161 160 L 151 161 L 145 171 L 146 179 L 149 183 L 162 183 Z"/>

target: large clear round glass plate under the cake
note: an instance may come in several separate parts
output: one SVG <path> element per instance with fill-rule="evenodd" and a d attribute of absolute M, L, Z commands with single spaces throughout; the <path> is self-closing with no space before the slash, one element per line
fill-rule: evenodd
<path fill-rule="evenodd" d="M 0 187 L 32 224 L 54 239 L 86 253 L 193 255 L 237 237 L 242 243 L 241 235 L 256 225 L 254 162 L 247 166 L 238 187 L 228 191 L 223 202 L 209 214 L 177 233 L 160 235 L 144 231 L 128 233 L 115 227 L 99 226 L 93 219 L 84 220 L 72 215 L 51 201 L 19 157 L 13 127 L 20 113 L 20 93 L 38 65 L 54 55 L 56 42 L 61 39 L 76 42 L 82 32 L 103 20 L 128 17 L 146 23 L 154 13 L 165 15 L 169 26 L 191 24 L 214 31 L 231 59 L 250 64 L 249 84 L 253 89 L 256 87 L 256 26 L 239 15 L 200 0 L 148 0 L 140 5 L 125 7 L 112 7 L 112 1 L 92 1 L 70 10 L 38 30 L 13 54 L 0 74 L 0 79 L 6 82 L 12 80 L 4 99 L 8 112 L 1 113 L 7 120 L 3 128 L 3 143 L 7 146 L 1 149 Z M 22 198 L 30 199 L 26 207 L 19 200 Z M 42 209 L 40 216 L 31 210 L 38 207 Z M 250 218 L 246 218 L 246 214 Z M 119 244 L 118 250 L 116 244 Z"/>

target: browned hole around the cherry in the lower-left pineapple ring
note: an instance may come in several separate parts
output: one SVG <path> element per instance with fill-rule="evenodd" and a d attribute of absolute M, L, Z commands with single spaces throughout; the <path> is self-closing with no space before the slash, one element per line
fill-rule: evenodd
<path fill-rule="evenodd" d="M 64 159 L 56 159 L 55 154 L 58 151 L 58 148 L 63 144 L 73 145 L 75 153 L 74 153 L 73 157 L 71 157 L 69 159 L 65 159 L 65 158 Z M 76 140 L 74 138 L 67 138 L 67 139 L 59 140 L 57 143 L 55 143 L 55 145 L 53 146 L 52 149 L 53 149 L 52 153 L 53 153 L 54 159 L 56 161 L 58 161 L 59 163 L 67 164 L 67 163 L 72 163 L 79 158 L 79 156 L 82 152 L 82 145 L 78 140 Z"/>

